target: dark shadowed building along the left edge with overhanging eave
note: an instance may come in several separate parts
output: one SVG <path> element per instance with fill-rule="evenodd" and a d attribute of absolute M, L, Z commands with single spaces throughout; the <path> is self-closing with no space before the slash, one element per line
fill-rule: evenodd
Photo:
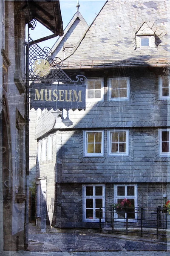
<path fill-rule="evenodd" d="M 54 18 L 51 9 L 58 16 Z M 33 18 L 62 35 L 59 1 L 0 1 L 0 254 L 28 246 L 29 115 L 25 37 L 26 24 Z"/>

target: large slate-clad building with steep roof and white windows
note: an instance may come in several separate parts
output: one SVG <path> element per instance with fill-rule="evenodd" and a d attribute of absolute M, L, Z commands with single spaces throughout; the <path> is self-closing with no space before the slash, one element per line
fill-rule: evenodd
<path fill-rule="evenodd" d="M 71 79 L 87 77 L 86 109 L 37 119 L 37 219 L 46 212 L 47 226 L 99 227 L 99 208 L 170 199 L 169 5 L 108 0 L 63 60 Z"/>

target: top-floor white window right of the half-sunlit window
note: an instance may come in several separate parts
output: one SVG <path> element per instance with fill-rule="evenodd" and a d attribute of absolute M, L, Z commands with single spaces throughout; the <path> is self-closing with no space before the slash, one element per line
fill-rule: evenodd
<path fill-rule="evenodd" d="M 108 79 L 109 101 L 129 100 L 129 77 L 112 77 Z"/>

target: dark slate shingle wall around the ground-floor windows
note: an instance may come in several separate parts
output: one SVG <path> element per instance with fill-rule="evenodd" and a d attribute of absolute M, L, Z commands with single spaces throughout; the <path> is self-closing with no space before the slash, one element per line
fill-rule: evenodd
<path fill-rule="evenodd" d="M 114 203 L 114 184 L 105 184 L 105 207 L 110 211 L 111 205 Z M 166 193 L 166 185 L 162 183 L 142 183 L 138 184 L 138 207 L 144 209 L 153 207 L 156 209 L 162 205 L 162 196 Z M 82 184 L 79 183 L 62 183 L 58 185 L 57 189 L 57 215 L 55 227 L 99 227 L 99 223 L 83 222 L 82 215 Z M 138 214 L 140 218 L 140 213 Z M 156 211 L 154 214 L 148 214 L 144 211 L 143 218 L 155 219 Z M 109 214 L 108 214 L 108 221 Z M 145 225 L 150 221 L 145 221 Z M 138 222 L 140 224 L 140 221 Z M 136 225 L 138 225 L 136 223 Z M 156 222 L 152 222 L 153 226 Z"/>

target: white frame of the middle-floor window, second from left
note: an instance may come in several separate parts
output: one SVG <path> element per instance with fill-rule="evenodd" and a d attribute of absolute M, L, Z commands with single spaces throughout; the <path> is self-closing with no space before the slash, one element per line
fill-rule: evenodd
<path fill-rule="evenodd" d="M 116 153 L 112 153 L 111 152 L 111 133 L 112 132 L 126 132 L 126 151 L 125 152 L 116 152 Z M 108 155 L 109 156 L 115 156 L 115 157 L 119 157 L 119 156 L 128 156 L 129 155 L 129 130 L 109 130 L 108 131 Z"/>

